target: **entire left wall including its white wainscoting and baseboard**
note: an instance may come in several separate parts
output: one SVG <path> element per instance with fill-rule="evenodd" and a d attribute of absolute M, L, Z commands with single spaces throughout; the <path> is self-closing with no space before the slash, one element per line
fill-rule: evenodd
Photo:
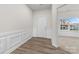
<path fill-rule="evenodd" d="M 32 30 L 32 10 L 27 5 L 0 5 L 0 53 L 10 53 L 28 41 Z"/>

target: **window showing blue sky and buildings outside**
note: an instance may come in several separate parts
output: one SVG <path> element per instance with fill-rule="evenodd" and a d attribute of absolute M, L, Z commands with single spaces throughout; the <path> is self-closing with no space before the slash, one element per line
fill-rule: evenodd
<path fill-rule="evenodd" d="M 65 19 L 60 19 L 60 30 L 79 30 L 79 18 L 77 17 L 68 17 Z"/>

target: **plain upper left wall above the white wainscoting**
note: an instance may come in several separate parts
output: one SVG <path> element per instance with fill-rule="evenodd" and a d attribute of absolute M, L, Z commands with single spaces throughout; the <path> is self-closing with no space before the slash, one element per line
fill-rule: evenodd
<path fill-rule="evenodd" d="M 27 5 L 0 5 L 0 32 L 32 31 L 32 10 Z"/>

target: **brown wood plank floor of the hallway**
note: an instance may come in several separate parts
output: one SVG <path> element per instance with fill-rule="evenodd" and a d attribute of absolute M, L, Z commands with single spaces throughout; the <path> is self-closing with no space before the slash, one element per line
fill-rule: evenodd
<path fill-rule="evenodd" d="M 53 47 L 50 39 L 33 37 L 11 54 L 68 54 L 68 52 Z"/>

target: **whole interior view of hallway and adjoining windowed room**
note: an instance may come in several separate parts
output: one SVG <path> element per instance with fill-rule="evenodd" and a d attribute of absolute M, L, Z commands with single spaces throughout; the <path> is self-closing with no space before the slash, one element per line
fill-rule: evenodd
<path fill-rule="evenodd" d="M 2 4 L 0 16 L 0 54 L 79 53 L 79 4 Z"/>

